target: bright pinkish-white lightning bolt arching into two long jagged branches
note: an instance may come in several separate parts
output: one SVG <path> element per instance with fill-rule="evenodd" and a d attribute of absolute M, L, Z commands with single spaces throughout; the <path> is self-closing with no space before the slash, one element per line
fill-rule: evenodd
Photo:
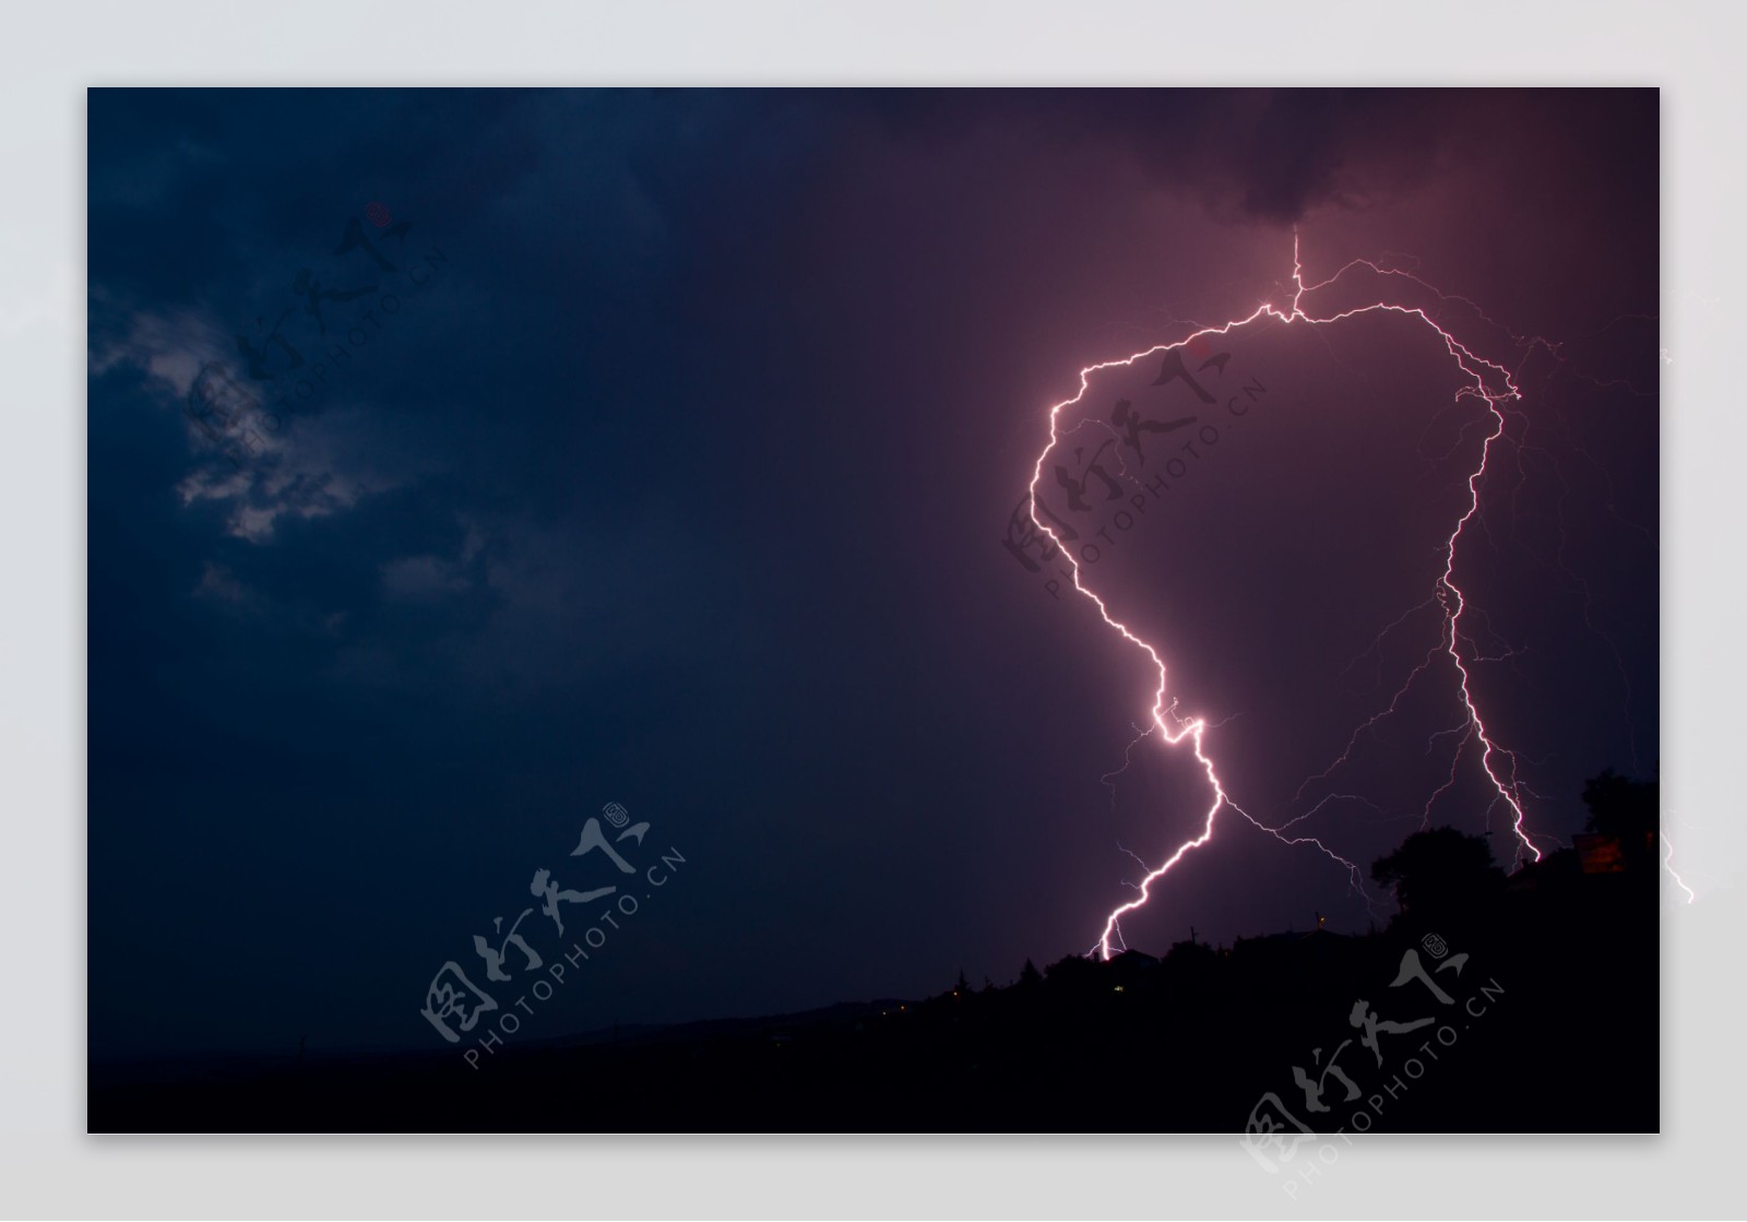
<path fill-rule="evenodd" d="M 1286 836 L 1282 836 L 1282 829 L 1275 829 L 1275 827 L 1268 827 L 1268 825 L 1261 823 L 1260 820 L 1256 820 L 1254 816 L 1251 816 L 1242 806 L 1239 806 L 1237 802 L 1232 801 L 1232 795 L 1226 792 L 1225 781 L 1221 781 L 1219 771 L 1214 766 L 1212 757 L 1207 753 L 1207 729 L 1209 727 L 1207 727 L 1205 719 L 1202 719 L 1202 717 L 1188 717 L 1188 719 L 1177 717 L 1177 713 L 1176 713 L 1176 701 L 1172 701 L 1169 706 L 1165 705 L 1167 670 L 1165 670 L 1165 661 L 1160 656 L 1158 649 L 1155 649 L 1151 643 L 1148 643 L 1148 642 L 1141 640 L 1139 636 L 1136 636 L 1134 631 L 1130 631 L 1127 624 L 1120 622 L 1116 617 L 1113 617 L 1109 614 L 1109 607 L 1104 603 L 1104 600 L 1099 598 L 1092 589 L 1088 589 L 1085 586 L 1085 582 L 1081 580 L 1080 561 L 1074 558 L 1074 554 L 1067 547 L 1062 545 L 1062 540 L 1055 535 L 1055 531 L 1046 523 L 1043 523 L 1039 519 L 1039 516 L 1038 516 L 1038 481 L 1043 479 L 1043 462 L 1045 462 L 1045 458 L 1048 458 L 1048 455 L 1055 449 L 1057 442 L 1060 441 L 1060 414 L 1062 414 L 1064 409 L 1073 407 L 1074 404 L 1078 404 L 1085 397 L 1087 390 L 1090 390 L 1090 386 L 1092 386 L 1092 381 L 1090 381 L 1092 374 L 1095 374 L 1095 372 L 1099 372 L 1102 369 L 1115 369 L 1115 367 L 1120 367 L 1120 365 L 1132 365 L 1137 360 L 1143 360 L 1146 357 L 1151 357 L 1151 355 L 1157 355 L 1157 353 L 1162 353 L 1162 351 L 1170 351 L 1174 348 L 1183 348 L 1184 344 L 1188 344 L 1188 343 L 1191 343 L 1195 339 L 1202 339 L 1205 336 L 1225 336 L 1225 334 L 1230 334 L 1233 329 L 1244 327 L 1244 325 L 1247 325 L 1251 322 L 1256 322 L 1258 318 L 1275 318 L 1275 320 L 1279 320 L 1281 323 L 1286 323 L 1286 325 L 1302 322 L 1305 325 L 1315 327 L 1315 325 L 1335 323 L 1335 322 L 1342 322 L 1345 318 L 1354 318 L 1357 315 L 1366 315 L 1366 313 L 1375 313 L 1375 311 L 1387 311 L 1387 313 L 1399 313 L 1399 315 L 1415 316 L 1420 322 L 1424 322 L 1427 327 L 1431 327 L 1434 332 L 1438 332 L 1438 337 L 1443 341 L 1445 350 L 1455 360 L 1457 367 L 1462 371 L 1464 376 L 1467 376 L 1467 378 L 1473 379 L 1473 386 L 1464 386 L 1462 390 L 1457 392 L 1457 400 L 1466 399 L 1466 397 L 1474 397 L 1474 399 L 1480 399 L 1481 402 L 1487 404 L 1487 411 L 1492 416 L 1492 425 L 1494 427 L 1488 432 L 1485 442 L 1481 442 L 1478 465 L 1474 467 L 1473 472 L 1469 472 L 1469 477 L 1467 477 L 1467 509 L 1457 519 L 1454 530 L 1450 531 L 1450 537 L 1445 540 L 1445 545 L 1443 545 L 1445 566 L 1443 566 L 1441 577 L 1438 579 L 1438 589 L 1436 589 L 1436 600 L 1438 600 L 1440 607 L 1443 608 L 1441 645 L 1443 645 L 1443 652 L 1450 657 L 1450 663 L 1455 666 L 1455 673 L 1459 677 L 1459 691 L 1460 691 L 1460 698 L 1462 698 L 1462 706 L 1464 706 L 1464 710 L 1467 713 L 1466 722 L 1467 722 L 1467 731 L 1469 733 L 1467 733 L 1467 736 L 1464 736 L 1464 741 L 1476 739 L 1480 743 L 1480 766 L 1485 771 L 1487 780 L 1492 781 L 1492 787 L 1497 792 L 1497 799 L 1502 799 L 1506 802 L 1506 806 L 1509 806 L 1511 815 L 1513 815 L 1511 825 L 1513 825 L 1513 830 L 1516 832 L 1518 841 L 1522 843 L 1522 846 L 1529 853 L 1534 855 L 1536 860 L 1541 860 L 1541 850 L 1536 848 L 1534 841 L 1529 837 L 1529 832 L 1523 827 L 1523 823 L 1525 823 L 1525 811 L 1523 811 L 1523 804 L 1522 804 L 1522 792 L 1520 792 L 1522 787 L 1520 787 L 1520 781 L 1516 778 L 1516 757 L 1511 755 L 1508 750 L 1501 748 L 1494 741 L 1494 736 L 1490 734 L 1490 731 L 1487 731 L 1485 720 L 1481 719 L 1480 710 L 1474 705 L 1474 698 L 1473 698 L 1473 692 L 1471 692 L 1471 687 L 1469 687 L 1467 664 L 1462 661 L 1462 654 L 1460 654 L 1460 649 L 1459 649 L 1459 645 L 1462 642 L 1460 621 L 1462 621 L 1462 614 L 1467 610 L 1467 600 L 1462 596 L 1460 587 L 1457 587 L 1457 584 L 1455 584 L 1455 547 L 1457 547 L 1457 540 L 1462 537 L 1462 530 L 1467 526 L 1467 523 L 1473 521 L 1474 516 L 1480 512 L 1480 479 L 1487 472 L 1487 460 L 1492 455 L 1494 442 L 1497 442 L 1499 437 L 1504 435 L 1506 418 L 1504 418 L 1502 404 L 1506 404 L 1509 400 L 1522 399 L 1522 393 L 1516 388 L 1516 383 L 1511 378 L 1511 372 L 1504 365 L 1499 365 L 1499 364 L 1494 364 L 1494 362 L 1485 360 L 1481 357 L 1476 357 L 1464 344 L 1460 344 L 1455 339 L 1455 336 L 1452 336 L 1448 330 L 1445 330 L 1441 325 L 1438 325 L 1438 322 L 1434 322 L 1431 318 L 1431 315 L 1427 315 L 1422 308 L 1405 306 L 1405 304 L 1396 304 L 1396 302 L 1387 302 L 1387 301 L 1377 301 L 1377 302 L 1371 302 L 1368 306 L 1357 306 L 1357 308 L 1352 308 L 1352 309 L 1345 309 L 1345 311 L 1329 315 L 1326 318 L 1317 318 L 1317 316 L 1312 316 L 1312 315 L 1305 313 L 1305 309 L 1303 309 L 1303 297 L 1305 297 L 1307 292 L 1315 292 L 1319 288 L 1326 288 L 1328 285 L 1331 285 L 1336 280 L 1340 280 L 1340 276 L 1343 276 L 1349 269 L 1352 269 L 1356 266 L 1361 266 L 1361 264 L 1366 266 L 1366 267 L 1371 267 L 1373 271 L 1378 271 L 1380 274 L 1403 274 L 1403 276 L 1406 274 L 1406 273 L 1385 273 L 1384 269 L 1377 267 L 1377 264 L 1370 264 L 1366 260 L 1354 260 L 1354 262 L 1347 264 L 1345 267 L 1342 267 L 1340 271 L 1336 271 L 1328 280 L 1324 280 L 1321 283 L 1315 283 L 1315 285 L 1305 285 L 1305 281 L 1303 281 L 1303 264 L 1302 264 L 1300 250 L 1298 250 L 1298 234 L 1295 233 L 1293 234 L 1293 301 L 1291 301 L 1291 308 L 1289 309 L 1282 311 L 1282 309 L 1275 308 L 1270 302 L 1263 302 L 1247 318 L 1232 320 L 1232 322 L 1226 322 L 1226 323 L 1223 323 L 1219 327 L 1202 327 L 1200 330 L 1195 330 L 1193 334 L 1184 336 L 1177 343 L 1172 343 L 1172 344 L 1155 344 L 1155 346 L 1151 346 L 1151 348 L 1148 348 L 1144 351 L 1137 351 L 1132 357 L 1127 357 L 1123 360 L 1108 360 L 1108 362 L 1101 362 L 1101 364 L 1095 364 L 1095 365 L 1087 365 L 1085 369 L 1080 371 L 1080 390 L 1078 390 L 1078 393 L 1074 393 L 1073 399 L 1066 399 L 1066 400 L 1055 404 L 1053 407 L 1050 407 L 1050 442 L 1038 455 L 1038 462 L 1032 465 L 1032 472 L 1031 472 L 1029 502 L 1031 502 L 1031 521 L 1032 521 L 1032 526 L 1036 526 L 1038 531 L 1041 531 L 1053 544 L 1053 547 L 1057 551 L 1060 551 L 1062 556 L 1067 558 L 1067 563 L 1069 563 L 1071 572 L 1073 572 L 1074 589 L 1078 593 L 1085 594 L 1087 598 L 1090 598 L 1092 603 L 1097 607 L 1099 615 L 1104 619 L 1104 622 L 1109 624 L 1111 628 L 1115 628 L 1118 633 L 1122 633 L 1123 640 L 1127 640 L 1136 649 L 1139 649 L 1141 652 L 1144 652 L 1146 657 L 1151 661 L 1153 670 L 1158 675 L 1158 687 L 1153 692 L 1151 724 L 1153 724 L 1155 729 L 1158 729 L 1158 734 L 1165 741 L 1165 745 L 1169 745 L 1169 746 L 1181 746 L 1184 741 L 1190 743 L 1190 746 L 1193 750 L 1193 755 L 1195 755 L 1195 760 L 1200 764 L 1202 771 L 1207 776 L 1207 783 L 1212 788 L 1212 801 L 1207 806 L 1207 813 L 1202 816 L 1202 830 L 1200 830 L 1200 834 L 1195 836 L 1193 839 L 1188 839 L 1183 844 L 1179 844 L 1177 850 L 1162 865 L 1157 865 L 1157 867 L 1150 869 L 1146 872 L 1146 878 L 1143 878 L 1141 883 L 1139 883 L 1139 886 L 1137 886 L 1139 895 L 1136 899 L 1127 900 L 1125 904 L 1120 904 L 1118 907 L 1115 907 L 1109 913 L 1109 916 L 1104 920 L 1104 930 L 1099 935 L 1097 946 L 1092 951 L 1092 953 L 1101 955 L 1102 958 L 1109 958 L 1111 956 L 1111 939 L 1115 937 L 1115 939 L 1120 941 L 1120 937 L 1122 937 L 1122 934 L 1120 934 L 1120 921 L 1122 921 L 1122 918 L 1127 913 L 1132 913 L 1137 907 L 1143 907 L 1146 904 L 1146 900 L 1151 899 L 1151 886 L 1153 886 L 1155 881 L 1158 881 L 1160 878 L 1164 878 L 1165 874 L 1169 874 L 1177 865 L 1177 862 L 1181 862 L 1191 850 L 1197 850 L 1197 848 L 1200 848 L 1202 844 L 1205 844 L 1207 841 L 1212 839 L 1214 825 L 1216 825 L 1216 822 L 1219 818 L 1219 809 L 1226 808 L 1226 806 L 1230 806 L 1233 811 L 1237 811 L 1239 815 L 1242 815 L 1247 822 L 1254 823 L 1256 827 L 1260 827 L 1261 830 L 1272 834 L 1275 839 L 1279 839 L 1279 841 L 1282 841 L 1286 844 L 1307 844 L 1307 843 L 1309 844 L 1315 844 L 1324 855 L 1328 855 L 1335 862 L 1340 862 L 1342 865 L 1345 865 L 1347 871 L 1349 871 L 1349 878 L 1352 879 L 1354 886 L 1359 890 L 1361 895 L 1364 893 L 1363 886 L 1359 885 L 1359 871 L 1357 871 L 1357 867 L 1352 862 L 1349 862 L 1343 857 L 1336 855 L 1333 850 L 1329 850 L 1326 844 L 1322 844 L 1315 837 L 1310 837 L 1310 836 L 1286 837 Z M 1415 280 L 1417 283 L 1424 283 L 1424 281 L 1419 281 L 1417 276 L 1406 276 L 1406 278 Z M 1433 290 L 1433 292 L 1436 292 L 1436 290 Z M 1448 297 L 1443 297 L 1443 294 L 1440 294 L 1440 297 L 1441 299 L 1448 299 Z M 1476 313 L 1478 313 L 1478 308 L 1476 308 Z M 1485 369 L 1499 383 L 1502 383 L 1502 388 L 1501 390 L 1490 390 L 1487 386 L 1487 374 L 1483 374 L 1481 369 Z M 1433 652 L 1436 652 L 1436 650 L 1433 650 Z M 1146 734 L 1143 733 L 1143 738 L 1144 736 Z M 1136 739 L 1136 741 L 1139 741 L 1139 739 Z M 1130 743 L 1130 750 L 1132 750 L 1132 746 L 1134 746 L 1134 743 Z M 1508 776 L 1501 776 L 1499 774 L 1499 766 L 1501 764 L 1508 764 Z M 1452 767 L 1454 767 L 1454 764 L 1452 764 Z M 1366 897 L 1366 899 L 1370 899 L 1370 897 Z"/>

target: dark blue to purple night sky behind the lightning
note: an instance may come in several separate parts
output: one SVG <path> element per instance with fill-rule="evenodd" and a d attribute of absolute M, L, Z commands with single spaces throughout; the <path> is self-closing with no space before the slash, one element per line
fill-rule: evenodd
<path fill-rule="evenodd" d="M 613 883 L 570 857 L 608 802 L 683 865 L 529 1040 L 1090 949 L 1209 790 L 1129 752 L 1150 663 L 1003 540 L 1081 367 L 1289 306 L 1295 231 L 1307 283 L 1448 294 L 1361 267 L 1331 311 L 1516 371 L 1460 649 L 1569 843 L 1585 778 L 1658 764 L 1658 128 L 1653 89 L 93 91 L 91 1056 L 442 1049 L 493 918 L 547 960 L 589 923 L 529 879 Z M 1143 481 L 1216 420 L 1085 580 L 1370 900 L 1223 811 L 1123 921 L 1153 953 L 1382 925 L 1426 818 L 1516 851 L 1447 657 L 1300 790 L 1438 645 L 1483 404 L 1401 315 L 1221 351 L 1212 407 L 1094 376 L 1039 491 L 1071 514 L 1118 399 L 1197 416 Z M 213 442 L 206 362 L 278 428 Z"/>

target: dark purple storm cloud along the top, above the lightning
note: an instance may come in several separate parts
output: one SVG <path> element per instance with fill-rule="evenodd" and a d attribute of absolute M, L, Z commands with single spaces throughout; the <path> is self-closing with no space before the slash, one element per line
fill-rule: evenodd
<path fill-rule="evenodd" d="M 1464 171 L 1518 196 L 1562 189 L 1632 201 L 1654 182 L 1616 152 L 1654 140 L 1654 89 L 971 89 L 861 94 L 905 140 L 1001 138 L 1120 150 L 1230 224 L 1366 213 Z M 1553 171 L 1551 164 L 1558 170 Z M 1454 175 L 1454 178 L 1452 178 Z M 1569 206 L 1569 201 L 1567 201 Z"/>

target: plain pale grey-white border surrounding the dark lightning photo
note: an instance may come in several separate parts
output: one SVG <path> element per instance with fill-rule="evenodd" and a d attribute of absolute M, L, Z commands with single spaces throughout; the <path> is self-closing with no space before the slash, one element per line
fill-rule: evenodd
<path fill-rule="evenodd" d="M 1742 10 L 1523 0 L 7 5 L 0 1212 L 1740 1217 Z M 86 1136 L 84 89 L 126 84 L 1661 86 L 1661 774 L 1679 829 L 1674 865 L 1696 900 L 1665 909 L 1661 1049 L 1623 1044 L 1619 1056 L 1660 1054 L 1665 1135 L 1370 1138 L 1338 1147 L 1296 1201 L 1230 1136 Z M 1595 252 L 1599 274 L 1607 257 Z M 1523 1073 L 1557 1056 L 1557 1045 L 1525 1049 Z M 1509 1131 L 1508 1105 L 1495 1128 Z"/>

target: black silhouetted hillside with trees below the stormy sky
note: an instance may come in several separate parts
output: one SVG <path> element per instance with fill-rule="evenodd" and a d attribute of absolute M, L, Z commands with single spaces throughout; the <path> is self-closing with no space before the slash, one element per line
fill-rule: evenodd
<path fill-rule="evenodd" d="M 1356 1038 L 1354 1002 L 1392 1000 L 1403 955 L 1466 955 L 1485 1021 L 1391 1096 L 1382 1131 L 1658 1128 L 1660 802 L 1653 780 L 1592 778 L 1586 832 L 1511 874 L 1452 827 L 1371 865 L 1382 930 L 1274 934 L 1151 956 L 1069 955 L 1010 984 L 849 1002 L 627 1038 L 372 1058 L 220 1079 L 101 1080 L 93 1131 L 1183 1131 L 1239 1133 L 1293 1066 Z M 1434 942 L 1427 942 L 1434 939 Z M 1349 1052 L 1370 1070 L 1370 1051 Z M 1315 1115 L 1333 1131 L 1338 1110 Z M 1321 1126 L 1328 1126 L 1322 1129 Z"/>

